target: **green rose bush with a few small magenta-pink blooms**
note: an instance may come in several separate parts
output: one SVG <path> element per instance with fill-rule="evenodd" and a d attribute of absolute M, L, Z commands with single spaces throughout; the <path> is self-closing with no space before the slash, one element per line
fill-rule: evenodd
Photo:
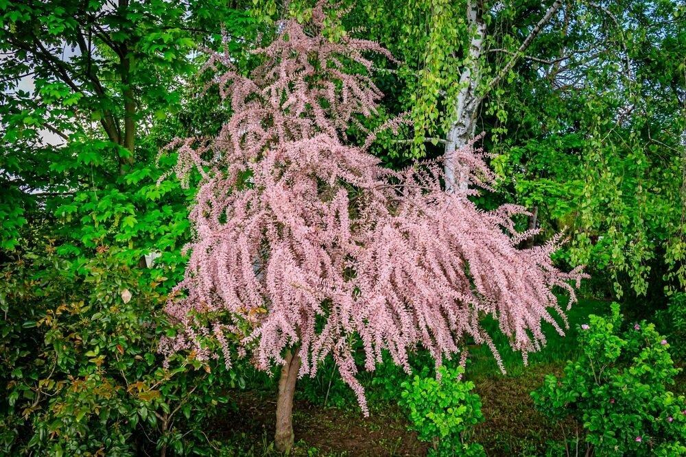
<path fill-rule="evenodd" d="M 622 332 L 622 314 L 591 314 L 582 325 L 583 355 L 565 375 L 547 375 L 532 392 L 551 421 L 579 421 L 598 456 L 676 456 L 686 452 L 686 399 L 667 391 L 681 369 L 670 344 L 641 321 Z"/>

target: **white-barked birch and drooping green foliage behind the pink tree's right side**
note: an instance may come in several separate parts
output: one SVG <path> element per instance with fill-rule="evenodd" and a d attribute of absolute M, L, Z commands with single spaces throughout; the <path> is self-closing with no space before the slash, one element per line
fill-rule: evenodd
<path fill-rule="evenodd" d="M 523 223 L 571 226 L 569 262 L 616 295 L 683 288 L 683 5 L 363 1 L 344 28 L 401 62 L 380 87 L 412 110 L 416 153 L 486 132 L 501 189 L 536 214 Z"/>

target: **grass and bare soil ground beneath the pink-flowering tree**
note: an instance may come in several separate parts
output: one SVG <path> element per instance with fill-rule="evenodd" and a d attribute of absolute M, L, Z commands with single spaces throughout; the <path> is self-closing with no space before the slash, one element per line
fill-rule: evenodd
<path fill-rule="evenodd" d="M 466 378 L 475 383 L 482 399 L 486 421 L 475 428 L 475 440 L 486 448 L 488 456 L 541 456 L 549 443 L 563 436 L 574 436 L 576 423 L 561 428 L 550 425 L 534 408 L 530 392 L 541 386 L 547 373 L 560 374 L 567 360 L 578 356 L 577 335 L 589 314 L 605 314 L 609 304 L 581 299 L 567 317 L 569 329 L 560 336 L 552 325 L 545 324 L 547 345 L 530 354 L 529 366 L 521 354 L 513 352 L 505 336 L 497 331 L 495 321 L 486 321 L 493 335 L 507 374 L 503 375 L 484 346 L 471 345 Z M 428 360 L 428 359 L 427 359 Z M 414 361 L 415 371 L 427 360 Z M 368 392 L 371 415 L 364 418 L 354 395 L 338 380 L 333 367 L 324 365 L 314 380 L 299 381 L 294 406 L 296 446 L 294 456 L 423 456 L 427 445 L 407 431 L 403 410 L 393 401 L 407 375 L 391 364 L 383 364 L 377 373 L 362 373 Z M 682 378 L 683 380 L 683 378 Z M 235 391 L 232 408 L 211 424 L 211 434 L 230 443 L 227 455 L 278 455 L 272 447 L 274 434 L 275 378 L 254 373 L 248 389 Z M 683 392 L 683 382 L 676 386 Z"/>

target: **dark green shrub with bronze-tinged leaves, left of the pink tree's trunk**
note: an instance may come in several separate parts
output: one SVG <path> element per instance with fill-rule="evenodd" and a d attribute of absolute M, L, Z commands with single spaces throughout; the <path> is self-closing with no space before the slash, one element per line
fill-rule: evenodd
<path fill-rule="evenodd" d="M 163 369 L 164 278 L 99 251 L 74 268 L 47 244 L 3 266 L 1 452 L 213 455 L 204 420 L 239 372 L 192 354 Z"/>

